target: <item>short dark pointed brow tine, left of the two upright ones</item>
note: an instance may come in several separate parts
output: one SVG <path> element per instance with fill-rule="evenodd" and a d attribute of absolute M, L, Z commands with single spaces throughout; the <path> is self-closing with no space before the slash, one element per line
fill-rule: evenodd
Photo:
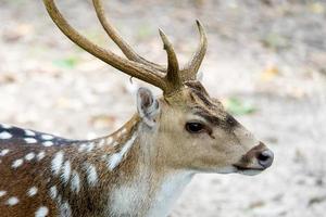
<path fill-rule="evenodd" d="M 165 76 L 165 79 L 168 84 L 173 85 L 171 89 L 177 89 L 181 86 L 181 80 L 179 77 L 179 64 L 176 56 L 176 53 L 174 51 L 174 48 L 170 40 L 167 39 L 166 35 L 163 33 L 162 29 L 159 29 L 161 39 L 164 44 L 164 50 L 167 53 L 167 74 Z"/>

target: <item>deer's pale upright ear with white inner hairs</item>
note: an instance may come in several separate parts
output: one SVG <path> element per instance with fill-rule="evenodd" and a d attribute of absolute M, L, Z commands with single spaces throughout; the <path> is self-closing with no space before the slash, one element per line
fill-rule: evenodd
<path fill-rule="evenodd" d="M 160 104 L 149 89 L 138 89 L 137 110 L 145 124 L 149 127 L 153 127 L 155 125 L 155 116 L 160 112 Z"/>

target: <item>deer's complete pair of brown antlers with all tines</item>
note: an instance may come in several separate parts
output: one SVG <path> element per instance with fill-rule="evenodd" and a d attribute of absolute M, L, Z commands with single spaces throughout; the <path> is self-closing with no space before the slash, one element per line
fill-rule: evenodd
<path fill-rule="evenodd" d="M 126 59 L 114 54 L 113 52 L 100 48 L 99 46 L 92 43 L 87 38 L 82 36 L 77 30 L 75 30 L 63 17 L 63 15 L 58 10 L 54 0 L 43 0 L 48 13 L 50 14 L 53 22 L 61 29 L 61 31 L 66 35 L 74 43 L 95 55 L 96 58 L 102 60 L 109 65 L 115 67 L 118 71 L 126 73 L 131 77 L 136 77 L 140 80 L 149 82 L 153 86 L 159 87 L 163 90 L 164 94 L 171 94 L 177 91 L 181 86 L 183 81 L 189 79 L 196 79 L 196 74 L 199 66 L 203 60 L 206 50 L 206 37 L 204 30 L 199 22 L 197 22 L 201 43 L 195 53 L 192 60 L 187 64 L 187 67 L 179 71 L 178 61 L 173 49 L 172 43 L 168 41 L 165 34 L 160 30 L 160 35 L 164 44 L 164 49 L 167 53 L 167 68 L 145 60 L 138 55 L 130 46 L 123 40 L 123 38 L 117 34 L 115 28 L 108 22 L 104 15 L 104 9 L 101 0 L 92 0 L 93 5 L 101 22 L 103 28 L 110 36 L 110 38 L 118 46 L 118 48 L 126 55 Z M 165 73 L 165 75 L 163 74 Z"/>

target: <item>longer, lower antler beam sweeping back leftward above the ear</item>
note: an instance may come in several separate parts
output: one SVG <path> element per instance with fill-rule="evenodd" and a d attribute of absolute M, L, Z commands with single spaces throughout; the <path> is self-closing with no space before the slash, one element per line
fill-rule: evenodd
<path fill-rule="evenodd" d="M 118 55 L 112 53 L 111 51 L 104 50 L 99 46 L 90 42 L 65 21 L 63 15 L 58 10 L 54 0 L 43 0 L 43 2 L 53 22 L 61 29 L 61 31 L 66 35 L 74 43 L 129 76 L 152 84 L 161 88 L 163 91 L 166 91 L 168 89 L 168 84 L 166 84 L 163 76 L 160 76 L 160 72 L 156 72 L 154 68 L 148 65 L 142 65 L 129 60 L 124 60 Z"/>

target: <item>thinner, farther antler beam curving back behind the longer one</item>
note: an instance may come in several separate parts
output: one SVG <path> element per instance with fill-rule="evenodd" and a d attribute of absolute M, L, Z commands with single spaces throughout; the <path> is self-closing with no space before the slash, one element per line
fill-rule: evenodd
<path fill-rule="evenodd" d="M 114 28 L 114 26 L 110 24 L 105 16 L 105 10 L 102 0 L 92 0 L 92 3 L 97 12 L 97 16 L 104 30 L 106 31 L 109 37 L 116 43 L 116 46 L 122 50 L 122 52 L 126 55 L 127 59 L 138 63 L 142 63 L 145 65 L 149 65 L 158 71 L 166 72 L 166 68 L 164 66 L 147 61 L 146 59 L 137 54 L 133 50 L 133 48 L 118 35 L 117 30 Z"/>

